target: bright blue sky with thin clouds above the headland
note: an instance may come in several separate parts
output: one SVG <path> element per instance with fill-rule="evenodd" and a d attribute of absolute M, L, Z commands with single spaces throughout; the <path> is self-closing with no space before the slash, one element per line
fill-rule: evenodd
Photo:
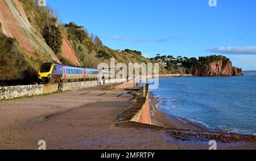
<path fill-rule="evenodd" d="M 221 54 L 243 70 L 256 70 L 256 1 L 46 0 L 62 23 L 75 22 L 112 49 L 143 56 Z"/>

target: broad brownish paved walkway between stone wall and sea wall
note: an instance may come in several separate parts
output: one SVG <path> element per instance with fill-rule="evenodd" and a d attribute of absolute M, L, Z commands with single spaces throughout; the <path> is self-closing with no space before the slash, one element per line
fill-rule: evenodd
<path fill-rule="evenodd" d="M 157 133 L 115 127 L 133 96 L 101 89 L 0 102 L 0 149 L 38 149 L 40 140 L 47 149 L 154 149 L 152 140 L 163 143 L 164 135 L 152 139 Z"/>

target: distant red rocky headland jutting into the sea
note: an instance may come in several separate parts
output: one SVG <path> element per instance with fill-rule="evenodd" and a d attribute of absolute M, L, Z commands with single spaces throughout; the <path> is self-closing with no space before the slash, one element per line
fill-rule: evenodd
<path fill-rule="evenodd" d="M 223 60 L 193 66 L 191 74 L 196 77 L 214 77 L 214 76 L 242 76 L 242 70 L 232 66 L 232 62 L 224 62 Z"/>

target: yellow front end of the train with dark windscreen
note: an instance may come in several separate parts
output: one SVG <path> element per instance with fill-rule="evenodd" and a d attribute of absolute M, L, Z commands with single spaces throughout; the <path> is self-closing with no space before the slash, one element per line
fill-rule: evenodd
<path fill-rule="evenodd" d="M 52 78 L 53 63 L 44 63 L 38 71 L 38 82 L 49 83 Z"/>

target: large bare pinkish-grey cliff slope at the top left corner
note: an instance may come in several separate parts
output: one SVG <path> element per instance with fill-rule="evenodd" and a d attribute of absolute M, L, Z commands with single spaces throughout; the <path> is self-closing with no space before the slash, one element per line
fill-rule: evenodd
<path fill-rule="evenodd" d="M 8 37 L 18 40 L 22 49 L 28 53 L 27 57 L 33 57 L 42 62 L 59 62 L 52 49 L 32 28 L 22 3 L 18 0 L 0 1 L 0 22 L 2 32 Z M 44 54 L 44 57 L 34 56 L 36 52 Z"/>

